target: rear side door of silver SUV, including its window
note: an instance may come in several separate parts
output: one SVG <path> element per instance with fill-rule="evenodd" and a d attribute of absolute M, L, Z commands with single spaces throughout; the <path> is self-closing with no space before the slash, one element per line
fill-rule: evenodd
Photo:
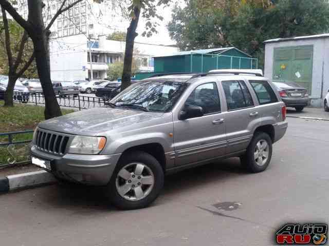
<path fill-rule="evenodd" d="M 248 147 L 254 129 L 261 125 L 261 118 L 258 104 L 244 79 L 222 80 L 221 86 L 226 106 L 227 154 L 231 154 Z"/>

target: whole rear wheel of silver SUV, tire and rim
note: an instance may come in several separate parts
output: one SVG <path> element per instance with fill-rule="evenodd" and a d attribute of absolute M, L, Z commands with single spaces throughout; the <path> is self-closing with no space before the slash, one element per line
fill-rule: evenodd
<path fill-rule="evenodd" d="M 264 142 L 267 143 L 267 147 L 264 147 Z M 262 146 L 260 149 L 259 144 Z M 257 158 L 256 153 L 262 153 L 262 156 Z M 267 158 L 265 158 L 267 156 Z M 244 166 L 251 173 L 259 173 L 266 170 L 269 165 L 269 162 L 272 158 L 272 139 L 265 132 L 255 132 L 244 156 L 240 157 L 242 166 Z M 263 162 L 262 162 L 263 161 Z"/>

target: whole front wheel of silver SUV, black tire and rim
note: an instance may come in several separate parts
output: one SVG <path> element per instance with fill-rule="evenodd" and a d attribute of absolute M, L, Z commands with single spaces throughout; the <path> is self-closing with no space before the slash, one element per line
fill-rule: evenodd
<path fill-rule="evenodd" d="M 157 159 L 146 152 L 134 151 L 120 158 L 106 187 L 106 195 L 119 209 L 141 209 L 149 206 L 158 197 L 163 182 L 163 170 Z"/>

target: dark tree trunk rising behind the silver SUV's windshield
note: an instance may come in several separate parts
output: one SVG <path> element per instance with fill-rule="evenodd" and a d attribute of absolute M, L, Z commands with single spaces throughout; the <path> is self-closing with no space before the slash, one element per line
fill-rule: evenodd
<path fill-rule="evenodd" d="M 134 17 L 131 20 L 129 28 L 127 28 L 127 36 L 125 39 L 125 51 L 124 51 L 124 61 L 123 61 L 123 72 L 122 72 L 122 82 L 121 91 L 130 86 L 132 78 L 132 63 L 134 54 L 134 42 L 138 20 L 139 20 L 140 8 L 134 8 Z"/>

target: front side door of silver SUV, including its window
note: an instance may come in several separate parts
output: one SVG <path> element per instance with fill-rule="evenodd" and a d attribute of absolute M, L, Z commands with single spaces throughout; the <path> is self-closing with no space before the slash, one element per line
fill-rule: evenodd
<path fill-rule="evenodd" d="M 176 166 L 209 160 L 226 154 L 226 125 L 215 82 L 196 86 L 185 106 L 203 108 L 204 116 L 174 122 Z"/>

